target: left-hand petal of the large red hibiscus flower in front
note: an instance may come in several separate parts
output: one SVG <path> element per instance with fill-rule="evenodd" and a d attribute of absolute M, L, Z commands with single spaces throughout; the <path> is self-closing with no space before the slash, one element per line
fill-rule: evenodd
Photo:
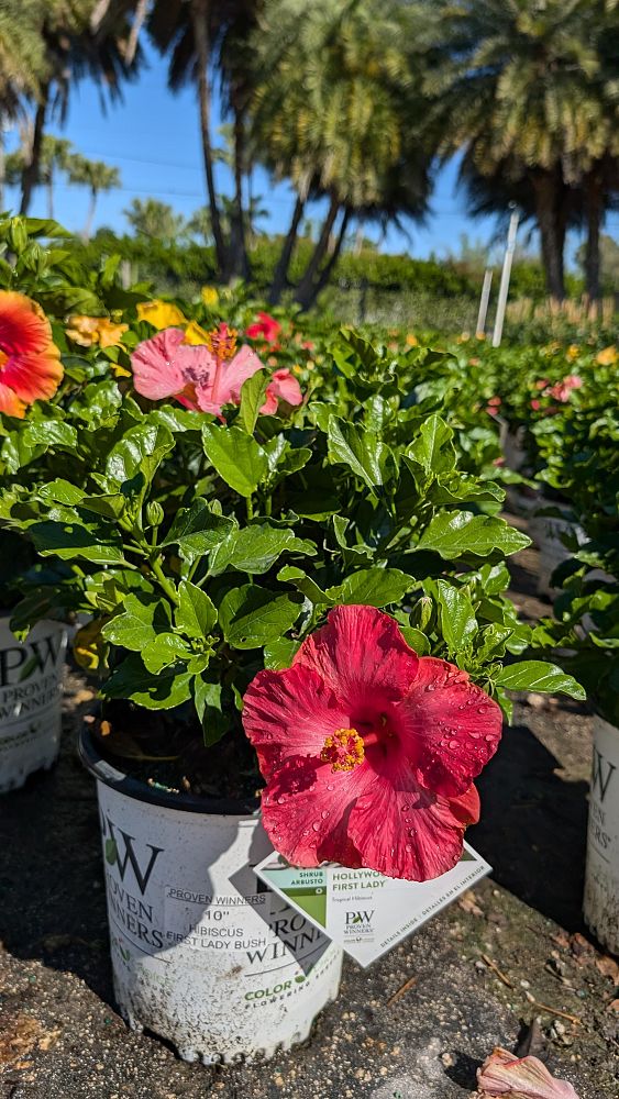
<path fill-rule="evenodd" d="M 316 671 L 259 671 L 243 697 L 243 725 L 269 779 L 289 756 L 320 756 L 324 741 L 347 729 L 349 714 Z"/>

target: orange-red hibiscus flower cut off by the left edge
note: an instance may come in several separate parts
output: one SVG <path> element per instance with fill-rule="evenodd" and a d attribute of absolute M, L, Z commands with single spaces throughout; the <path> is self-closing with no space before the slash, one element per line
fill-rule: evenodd
<path fill-rule="evenodd" d="M 26 406 L 53 397 L 62 378 L 60 352 L 41 306 L 0 290 L 0 412 L 22 420 Z"/>

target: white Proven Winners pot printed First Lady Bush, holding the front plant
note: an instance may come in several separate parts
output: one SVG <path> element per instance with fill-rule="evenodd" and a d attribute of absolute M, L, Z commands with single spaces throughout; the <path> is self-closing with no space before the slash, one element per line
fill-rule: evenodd
<path fill-rule="evenodd" d="M 88 730 L 114 991 L 135 1030 L 184 1061 L 270 1057 L 335 998 L 342 951 L 261 882 L 273 850 L 257 802 L 175 795 L 117 770 Z"/>

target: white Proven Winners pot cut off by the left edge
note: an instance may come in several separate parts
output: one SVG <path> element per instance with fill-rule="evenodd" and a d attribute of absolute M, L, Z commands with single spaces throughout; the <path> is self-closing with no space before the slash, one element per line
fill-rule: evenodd
<path fill-rule="evenodd" d="M 38 622 L 19 642 L 0 617 L 0 793 L 56 762 L 60 747 L 65 626 Z"/>

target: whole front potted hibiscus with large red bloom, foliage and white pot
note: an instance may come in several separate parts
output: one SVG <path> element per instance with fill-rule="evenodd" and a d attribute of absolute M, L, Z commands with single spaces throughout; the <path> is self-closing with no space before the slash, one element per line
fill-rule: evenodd
<path fill-rule="evenodd" d="M 194 336 L 121 349 L 133 387 L 106 429 L 2 514 L 42 562 L 14 629 L 67 601 L 91 617 L 81 754 L 121 1010 L 230 1061 L 302 1039 L 338 988 L 341 953 L 256 880 L 272 845 L 435 877 L 508 692 L 583 692 L 519 659 L 505 559 L 528 539 L 464 466 L 449 356 L 340 333 L 308 400 L 225 324 Z"/>

